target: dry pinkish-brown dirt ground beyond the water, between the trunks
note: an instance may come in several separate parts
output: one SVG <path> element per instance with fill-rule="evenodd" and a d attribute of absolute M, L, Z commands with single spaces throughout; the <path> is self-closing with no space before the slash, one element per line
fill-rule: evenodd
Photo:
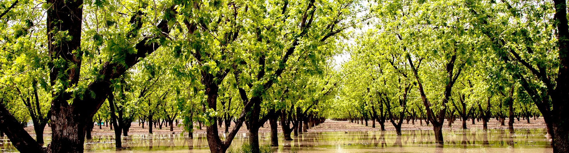
<path fill-rule="evenodd" d="M 533 118 L 530 119 L 530 123 L 528 124 L 527 121 L 521 119 L 520 121 L 517 121 L 517 119 L 514 119 L 514 128 L 528 128 L 528 129 L 535 129 L 535 128 L 546 128 L 545 122 L 543 121 L 543 118 L 537 118 L 536 120 L 534 120 Z M 461 121 L 459 119 L 457 119 L 453 124 L 452 127 L 448 127 L 448 121 L 444 122 L 443 126 L 443 130 L 445 129 L 461 129 Z M 230 126 L 231 130 L 233 128 L 234 123 L 232 123 L 232 126 Z M 506 126 L 500 126 L 500 122 L 497 121 L 496 119 L 490 119 L 490 122 L 488 122 L 488 128 L 489 129 L 508 129 L 508 119 L 506 118 Z M 475 125 L 472 125 L 472 121 L 467 121 L 467 127 L 469 129 L 482 129 L 482 122 L 476 122 Z M 34 127 L 33 126 L 28 126 L 26 128 L 24 128 L 26 131 L 28 131 L 28 133 L 30 133 L 31 135 L 35 135 L 34 132 Z M 279 132 L 281 132 L 281 127 L 279 126 Z M 224 127 L 220 128 L 220 133 L 224 131 Z M 309 129 L 308 131 L 375 131 L 375 130 L 380 130 L 380 125 L 379 123 L 376 122 L 376 128 L 372 127 L 372 121 L 368 121 L 368 126 L 365 126 L 365 123 L 362 125 L 361 123 L 350 123 L 349 121 L 333 121 L 330 119 L 327 119 L 324 123 L 321 123 L 318 126 L 312 127 L 312 129 Z M 391 124 L 391 122 L 386 121 L 385 122 L 385 130 L 395 130 L 395 127 Z M 403 121 L 403 125 L 402 125 L 402 130 L 432 130 L 432 125 L 431 126 L 427 126 L 426 123 L 423 121 L 423 125 L 420 125 L 419 121 L 415 121 L 415 124 L 412 124 L 412 121 L 409 121 L 409 123 L 407 124 L 407 121 Z M 174 131 L 170 131 L 170 127 L 165 127 L 163 126 L 162 129 L 158 129 L 158 126 L 156 126 L 156 128 L 153 128 L 152 131 L 154 132 L 154 134 L 170 134 L 170 133 L 182 133 L 183 132 L 183 128 L 182 126 L 176 126 L 174 125 Z M 239 133 L 246 133 L 246 127 L 245 125 L 243 125 L 241 127 L 241 129 L 239 130 Z M 261 127 L 261 129 L 259 129 L 259 132 L 261 133 L 268 133 L 270 132 L 270 126 L 269 123 L 265 123 L 265 125 L 263 127 Z M 149 129 L 148 126 L 145 125 L 145 129 L 142 129 L 142 126 L 138 126 L 138 122 L 134 122 L 131 124 L 131 127 L 129 129 L 129 134 L 148 134 L 149 133 Z M 194 133 L 205 133 L 205 127 L 203 128 L 203 130 L 199 130 L 196 129 L 194 131 Z M 93 135 L 112 135 L 114 134 L 113 130 L 110 130 L 110 127 L 107 126 L 101 126 L 101 128 L 99 128 L 98 125 L 94 126 L 93 131 L 92 131 Z M 44 135 L 51 135 L 51 128 L 46 126 L 46 129 L 44 130 Z"/>

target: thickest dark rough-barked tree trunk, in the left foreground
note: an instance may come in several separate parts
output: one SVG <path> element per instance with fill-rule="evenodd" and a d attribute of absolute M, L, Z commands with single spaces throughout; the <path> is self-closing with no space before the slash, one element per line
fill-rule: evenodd
<path fill-rule="evenodd" d="M 65 60 L 64 64 L 53 64 L 50 71 L 51 85 L 61 80 L 64 88 L 79 82 L 81 60 L 73 52 L 81 46 L 81 21 L 83 19 L 83 0 L 62 1 L 48 0 L 51 7 L 47 10 L 47 39 L 51 62 Z M 71 40 L 58 43 L 57 34 L 67 32 Z M 65 47 L 63 47 L 65 46 Z M 69 65 L 75 65 L 70 68 Z M 83 152 L 85 139 L 85 118 L 89 114 L 84 109 L 68 103 L 72 93 L 60 91 L 53 94 L 51 101 L 51 152 Z M 81 115 L 80 113 L 83 113 Z M 85 117 L 87 115 L 87 117 Z"/>

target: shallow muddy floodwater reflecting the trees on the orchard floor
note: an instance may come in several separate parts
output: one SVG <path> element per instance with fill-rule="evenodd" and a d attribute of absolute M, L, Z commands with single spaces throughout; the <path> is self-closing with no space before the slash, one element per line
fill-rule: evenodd
<path fill-rule="evenodd" d="M 275 152 L 552 152 L 545 129 L 447 130 L 445 143 L 434 143 L 432 130 L 402 131 L 333 131 L 308 132 L 293 137 L 294 140 L 279 140 Z M 224 137 L 224 134 L 220 134 Z M 122 137 L 123 149 L 114 148 L 113 135 L 93 135 L 85 140 L 85 152 L 209 152 L 205 133 L 194 134 L 193 139 L 180 134 L 144 134 Z M 270 133 L 259 133 L 261 145 L 270 144 Z M 279 139 L 282 139 L 282 134 Z M 50 140 L 47 137 L 47 142 Z M 3 137 L 2 152 L 17 152 L 10 140 Z M 246 133 L 237 134 L 232 147 L 239 148 L 247 142 Z"/>

